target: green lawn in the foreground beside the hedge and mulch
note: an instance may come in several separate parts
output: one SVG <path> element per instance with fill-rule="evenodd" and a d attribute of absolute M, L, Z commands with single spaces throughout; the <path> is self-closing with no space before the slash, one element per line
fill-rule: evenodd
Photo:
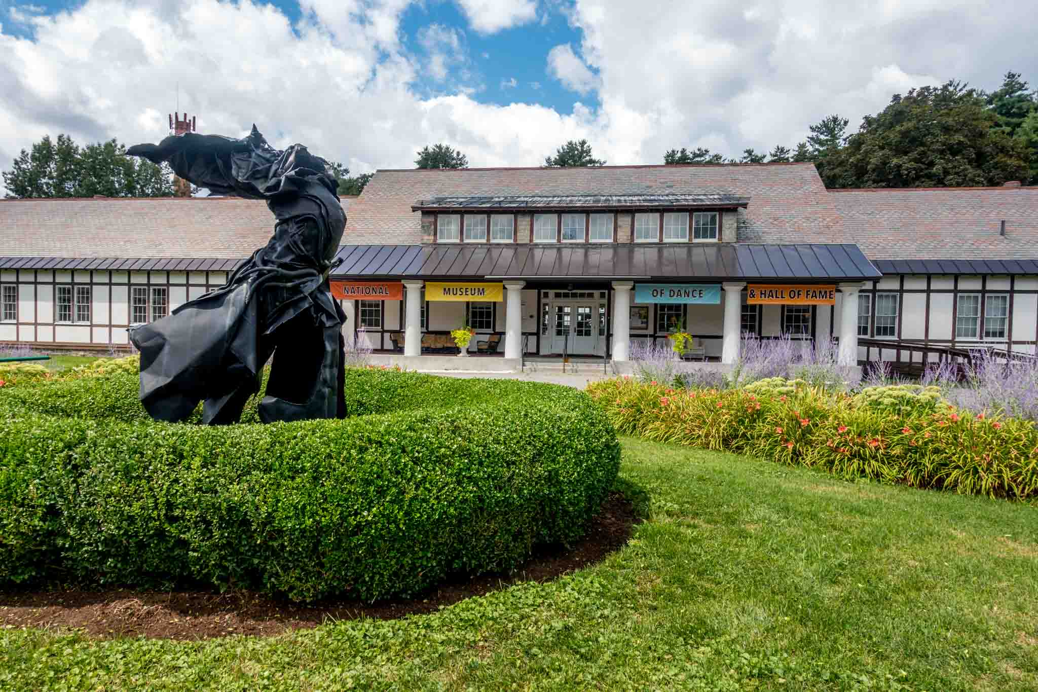
<path fill-rule="evenodd" d="M 0 689 L 1038 688 L 1034 505 L 640 440 L 621 473 L 651 520 L 556 582 L 268 639 L 0 631 Z"/>

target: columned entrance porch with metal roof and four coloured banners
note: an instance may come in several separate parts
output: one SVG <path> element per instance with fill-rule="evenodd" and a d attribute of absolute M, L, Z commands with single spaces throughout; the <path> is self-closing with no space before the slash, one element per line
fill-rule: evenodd
<path fill-rule="evenodd" d="M 347 246 L 339 257 L 333 284 L 401 286 L 346 301 L 374 351 L 456 356 L 450 331 L 467 325 L 470 355 L 519 368 L 538 356 L 622 363 L 632 342 L 662 345 L 679 329 L 717 365 L 738 362 L 746 333 L 838 338 L 850 361 L 854 290 L 877 274 L 853 245 Z"/>

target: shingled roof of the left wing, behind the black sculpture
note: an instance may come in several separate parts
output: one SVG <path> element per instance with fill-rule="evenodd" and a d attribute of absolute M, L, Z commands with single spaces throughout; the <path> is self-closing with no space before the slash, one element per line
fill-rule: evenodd
<path fill-rule="evenodd" d="M 4 257 L 244 259 L 273 228 L 265 201 L 238 197 L 0 200 Z"/>

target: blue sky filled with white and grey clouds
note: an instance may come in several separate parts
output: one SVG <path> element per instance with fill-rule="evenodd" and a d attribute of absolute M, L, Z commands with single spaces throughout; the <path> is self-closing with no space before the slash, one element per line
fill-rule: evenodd
<path fill-rule="evenodd" d="M 0 169 L 44 135 L 156 141 L 252 122 L 354 172 L 443 142 L 530 166 L 790 148 L 949 79 L 1038 85 L 1038 3 L 976 0 L 0 0 Z M 514 82 L 513 82 L 514 80 Z M 179 85 L 179 90 L 177 90 Z"/>

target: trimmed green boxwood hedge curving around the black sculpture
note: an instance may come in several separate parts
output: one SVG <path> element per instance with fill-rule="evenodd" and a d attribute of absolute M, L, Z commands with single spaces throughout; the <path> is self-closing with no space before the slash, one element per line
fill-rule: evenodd
<path fill-rule="evenodd" d="M 582 392 L 346 384 L 346 420 L 222 427 L 148 420 L 126 375 L 0 390 L 0 584 L 410 596 L 579 538 L 616 479 L 616 432 Z"/>

